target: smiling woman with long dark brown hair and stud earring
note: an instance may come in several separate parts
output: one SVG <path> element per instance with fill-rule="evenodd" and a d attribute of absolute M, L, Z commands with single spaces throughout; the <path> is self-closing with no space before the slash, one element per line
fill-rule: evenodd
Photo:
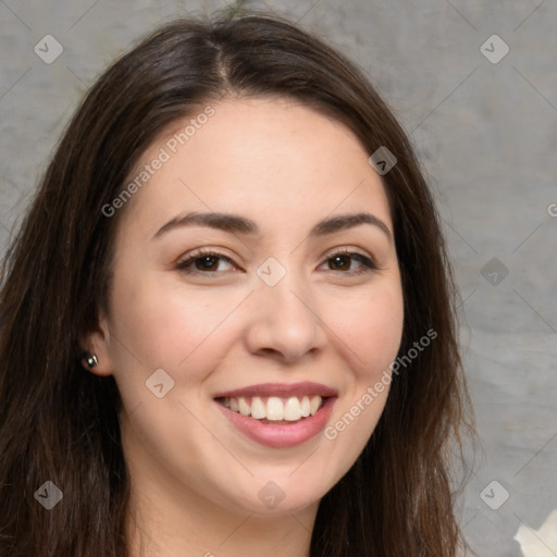
<path fill-rule="evenodd" d="M 0 555 L 457 555 L 455 298 L 350 62 L 276 17 L 164 26 L 9 249 Z"/>

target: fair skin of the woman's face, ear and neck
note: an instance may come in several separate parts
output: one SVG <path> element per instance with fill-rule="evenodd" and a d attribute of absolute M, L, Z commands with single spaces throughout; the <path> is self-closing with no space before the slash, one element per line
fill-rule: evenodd
<path fill-rule="evenodd" d="M 381 379 L 403 331 L 388 202 L 369 153 L 333 119 L 284 99 L 211 106 L 214 115 L 127 202 L 109 311 L 86 344 L 99 359 L 94 372 L 113 374 L 122 394 L 128 555 L 308 557 L 319 502 L 363 449 L 388 388 L 335 438 L 320 431 L 280 447 L 237 429 L 214 396 L 318 382 L 336 393 L 331 426 Z M 195 225 L 153 237 L 193 211 L 242 215 L 259 234 Z M 376 222 L 309 234 L 360 212 Z M 212 272 L 199 259 L 176 269 L 197 248 L 221 255 L 206 262 Z M 332 257 L 345 248 L 377 269 Z M 257 273 L 271 257 L 286 270 L 273 286 Z M 146 386 L 158 369 L 174 381 L 160 398 Z M 271 481 L 284 496 L 274 507 L 261 498 Z"/>

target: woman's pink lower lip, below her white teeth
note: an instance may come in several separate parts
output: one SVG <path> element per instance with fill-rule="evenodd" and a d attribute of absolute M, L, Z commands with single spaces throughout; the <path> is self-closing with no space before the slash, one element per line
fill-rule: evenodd
<path fill-rule="evenodd" d="M 250 440 L 273 448 L 294 447 L 300 445 L 311 437 L 314 437 L 325 428 L 336 397 L 325 399 L 323 406 L 314 416 L 302 418 L 297 422 L 285 424 L 262 423 L 250 416 L 242 416 L 239 412 L 230 410 L 220 403 L 215 403 L 221 411 L 228 418 L 242 433 Z"/>

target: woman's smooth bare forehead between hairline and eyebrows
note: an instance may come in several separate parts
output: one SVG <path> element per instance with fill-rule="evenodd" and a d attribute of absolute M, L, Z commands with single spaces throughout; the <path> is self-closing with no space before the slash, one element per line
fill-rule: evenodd
<path fill-rule="evenodd" d="M 253 220 L 264 213 L 267 222 L 284 225 L 313 211 L 322 218 L 362 206 L 388 221 L 383 182 L 343 123 L 283 98 L 208 106 L 173 122 L 141 157 L 135 176 L 164 162 L 134 194 L 126 211 L 134 222 L 154 226 L 195 209 Z"/>

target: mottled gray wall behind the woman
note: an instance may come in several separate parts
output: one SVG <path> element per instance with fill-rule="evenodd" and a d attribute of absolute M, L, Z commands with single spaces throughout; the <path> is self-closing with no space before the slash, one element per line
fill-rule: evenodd
<path fill-rule="evenodd" d="M 96 76 L 156 25 L 225 4 L 0 0 L 2 253 Z M 520 524 L 537 531 L 557 508 L 557 3 L 267 7 L 300 20 L 362 66 L 418 149 L 461 288 L 461 345 L 481 441 L 460 520 L 481 556 L 520 557 Z M 64 49 L 51 64 L 34 52 L 47 34 Z M 500 44 L 490 39 L 481 49 L 494 34 L 510 48 L 497 63 L 482 52 L 498 57 Z M 492 481 L 498 484 L 482 499 Z M 500 505 L 504 490 L 509 497 Z M 535 536 L 539 547 L 527 557 L 557 555 L 547 532 Z"/>

